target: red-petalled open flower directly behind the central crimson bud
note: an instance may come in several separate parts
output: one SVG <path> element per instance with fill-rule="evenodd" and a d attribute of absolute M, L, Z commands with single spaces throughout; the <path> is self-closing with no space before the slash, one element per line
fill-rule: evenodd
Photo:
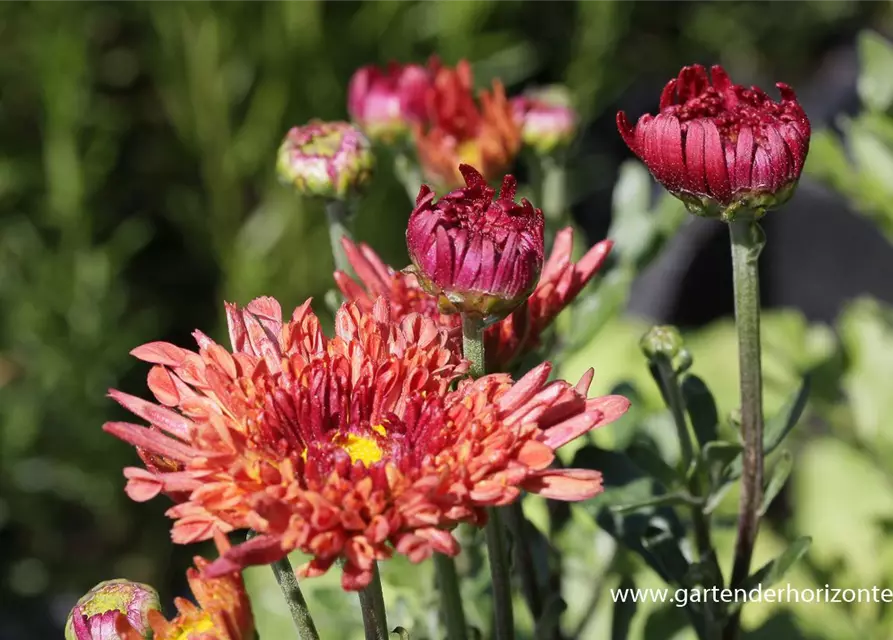
<path fill-rule="evenodd" d="M 485 330 L 488 371 L 508 371 L 518 359 L 536 349 L 543 332 L 598 272 L 613 246 L 610 240 L 602 240 L 575 263 L 571 260 L 573 238 L 571 227 L 558 232 L 536 289 L 508 317 Z M 455 340 L 451 345 L 461 349 L 459 316 L 441 313 L 437 298 L 422 289 L 415 274 L 394 270 L 368 245 L 355 245 L 349 240 L 342 244 L 359 280 L 342 271 L 335 273 L 335 282 L 346 299 L 371 311 L 374 300 L 383 296 L 390 301 L 395 320 L 408 313 L 422 313 L 452 330 Z"/>

